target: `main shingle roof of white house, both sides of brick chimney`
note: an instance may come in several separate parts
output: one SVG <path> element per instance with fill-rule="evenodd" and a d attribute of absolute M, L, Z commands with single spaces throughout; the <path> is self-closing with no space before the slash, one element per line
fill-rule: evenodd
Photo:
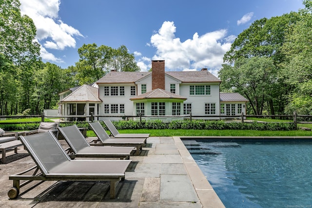
<path fill-rule="evenodd" d="M 151 72 L 109 72 L 97 83 L 132 83 L 150 74 Z M 165 72 L 165 74 L 182 82 L 221 82 L 208 71 Z"/>

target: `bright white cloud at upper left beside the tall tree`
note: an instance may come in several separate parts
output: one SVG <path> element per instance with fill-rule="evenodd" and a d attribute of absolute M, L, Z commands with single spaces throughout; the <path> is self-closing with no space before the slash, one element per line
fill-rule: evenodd
<path fill-rule="evenodd" d="M 41 57 L 45 60 L 57 60 L 60 58 L 52 57 L 46 49 L 64 50 L 66 47 L 76 47 L 75 37 L 83 37 L 81 33 L 72 26 L 59 19 L 60 0 L 20 0 L 20 12 L 33 19 L 36 28 Z M 49 54 L 47 56 L 47 54 Z M 48 59 L 48 58 L 51 59 Z"/>

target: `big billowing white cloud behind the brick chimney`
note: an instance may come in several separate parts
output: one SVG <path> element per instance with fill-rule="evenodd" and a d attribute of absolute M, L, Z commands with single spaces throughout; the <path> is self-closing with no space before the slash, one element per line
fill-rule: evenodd
<path fill-rule="evenodd" d="M 233 36 L 227 37 L 224 29 L 202 36 L 195 33 L 192 39 L 181 42 L 175 32 L 174 22 L 165 21 L 151 37 L 151 44 L 156 47 L 153 60 L 165 60 L 166 68 L 171 71 L 208 68 L 217 75 L 224 54 L 231 48 L 229 40 L 233 40 Z"/>

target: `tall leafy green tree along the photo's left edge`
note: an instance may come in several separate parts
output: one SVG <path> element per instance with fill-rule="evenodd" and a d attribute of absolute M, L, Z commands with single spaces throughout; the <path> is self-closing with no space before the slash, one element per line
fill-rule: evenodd
<path fill-rule="evenodd" d="M 0 73 L 7 80 L 0 82 L 1 114 L 17 113 L 29 106 L 27 96 L 31 94 L 33 72 L 40 62 L 35 36 L 32 19 L 20 14 L 19 0 L 0 0 Z"/>

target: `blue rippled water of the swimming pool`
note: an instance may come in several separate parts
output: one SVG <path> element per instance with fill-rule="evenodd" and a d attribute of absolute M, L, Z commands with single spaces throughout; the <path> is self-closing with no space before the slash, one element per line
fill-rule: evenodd
<path fill-rule="evenodd" d="M 226 208 L 312 207 L 311 140 L 183 140 Z"/>

